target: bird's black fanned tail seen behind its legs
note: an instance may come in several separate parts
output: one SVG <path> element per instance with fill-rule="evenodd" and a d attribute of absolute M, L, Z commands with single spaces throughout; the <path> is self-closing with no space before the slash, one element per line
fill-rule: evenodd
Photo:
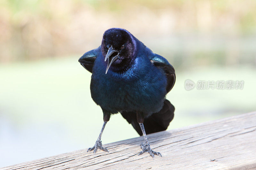
<path fill-rule="evenodd" d="M 144 119 L 143 124 L 146 134 L 166 130 L 174 117 L 174 110 L 175 108 L 171 104 L 171 102 L 165 99 L 164 106 L 159 112 L 153 113 L 151 116 Z M 142 136 L 140 125 L 137 122 L 136 113 L 121 112 L 121 115 L 124 117 L 124 119 L 127 120 L 127 122 L 131 123 L 133 128 L 138 132 L 138 134 Z"/>

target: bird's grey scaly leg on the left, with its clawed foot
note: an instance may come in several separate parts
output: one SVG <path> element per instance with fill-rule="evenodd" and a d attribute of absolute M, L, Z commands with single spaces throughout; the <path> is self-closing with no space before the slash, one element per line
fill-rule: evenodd
<path fill-rule="evenodd" d="M 107 148 L 104 148 L 104 147 L 102 146 L 102 143 L 101 143 L 101 135 L 102 135 L 102 133 L 103 133 L 103 130 L 104 130 L 104 128 L 105 128 L 107 122 L 109 121 L 109 118 L 110 118 L 110 114 L 103 112 L 103 120 L 104 120 L 104 123 L 103 123 L 103 126 L 102 126 L 101 130 L 100 130 L 100 135 L 99 135 L 98 139 L 96 140 L 95 145 L 94 145 L 93 147 L 89 148 L 89 149 L 87 150 L 87 152 L 93 150 L 93 152 L 94 152 L 94 154 L 95 154 L 98 148 L 101 149 L 102 151 L 108 152 L 108 149 L 107 149 Z"/>

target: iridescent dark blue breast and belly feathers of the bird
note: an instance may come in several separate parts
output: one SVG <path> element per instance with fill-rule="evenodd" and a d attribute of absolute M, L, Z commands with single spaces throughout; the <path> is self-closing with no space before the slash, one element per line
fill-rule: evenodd
<path fill-rule="evenodd" d="M 96 104 L 111 113 L 141 111 L 158 112 L 166 95 L 166 77 L 150 62 L 141 64 L 135 60 L 132 70 L 118 74 L 94 67 L 91 95 Z"/>

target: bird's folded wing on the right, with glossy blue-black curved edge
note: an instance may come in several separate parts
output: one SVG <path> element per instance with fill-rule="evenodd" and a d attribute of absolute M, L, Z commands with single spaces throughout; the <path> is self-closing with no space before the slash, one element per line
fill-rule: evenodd
<path fill-rule="evenodd" d="M 167 93 L 170 92 L 176 80 L 174 68 L 164 57 L 153 53 L 148 47 L 147 47 L 147 51 L 148 51 L 148 55 L 151 63 L 155 65 L 157 68 L 164 71 L 165 76 L 167 78 L 166 92 Z"/>

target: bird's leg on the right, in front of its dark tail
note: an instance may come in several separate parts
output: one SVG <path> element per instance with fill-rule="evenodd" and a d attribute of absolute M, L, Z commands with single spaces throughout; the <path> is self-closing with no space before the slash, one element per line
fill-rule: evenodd
<path fill-rule="evenodd" d="M 143 145 L 143 143 L 141 142 L 140 144 L 140 148 L 142 149 L 142 151 L 140 151 L 139 155 L 145 153 L 145 152 L 148 152 L 149 155 L 155 159 L 155 155 L 158 155 L 158 156 L 161 156 L 161 153 L 160 152 L 155 152 L 153 151 L 151 148 L 150 148 L 150 145 L 148 143 L 148 138 L 147 138 L 147 135 L 146 135 L 146 132 L 145 132 L 145 129 L 144 129 L 144 125 L 143 125 L 143 122 L 144 122 L 144 117 L 142 114 L 138 113 L 137 112 L 137 122 L 140 124 L 140 129 L 142 131 L 142 134 L 144 136 L 144 140 L 145 140 L 145 145 Z"/>

